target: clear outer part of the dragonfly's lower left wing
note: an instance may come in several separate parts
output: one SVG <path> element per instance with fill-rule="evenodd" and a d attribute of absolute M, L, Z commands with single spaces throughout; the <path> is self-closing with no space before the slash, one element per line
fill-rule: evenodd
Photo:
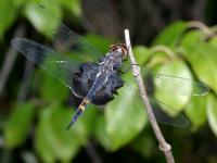
<path fill-rule="evenodd" d="M 55 51 L 26 38 L 14 38 L 11 43 L 28 60 L 38 64 L 73 91 L 72 80 L 74 73 L 78 71 L 79 62 L 68 60 Z"/>

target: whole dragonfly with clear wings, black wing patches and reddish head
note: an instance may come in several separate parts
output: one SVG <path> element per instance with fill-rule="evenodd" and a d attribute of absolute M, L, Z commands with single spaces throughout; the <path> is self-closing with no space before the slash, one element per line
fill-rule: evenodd
<path fill-rule="evenodd" d="M 122 70 L 128 70 L 126 67 L 130 66 L 124 66 L 128 53 L 128 48 L 125 43 L 112 45 L 108 52 L 103 54 L 65 24 L 59 22 L 59 18 L 46 8 L 39 5 L 37 10 L 43 15 L 48 36 L 53 37 L 54 46 L 50 48 L 34 40 L 17 37 L 13 38 L 11 43 L 15 50 L 68 87 L 76 97 L 82 99 L 73 114 L 67 129 L 77 122 L 89 103 L 104 105 L 115 100 L 119 89 L 130 89 L 131 93 L 139 97 L 139 89 L 131 86 L 130 80 L 122 78 L 122 74 L 127 73 L 127 71 L 122 72 Z M 187 95 L 189 90 L 192 96 L 203 96 L 208 92 L 206 85 L 195 80 L 154 74 L 146 68 L 142 68 L 141 72 L 154 79 L 169 83 L 169 93 L 173 93 L 174 88 L 178 85 L 180 86 L 180 84 L 183 87 L 183 91 L 178 92 L 180 95 Z M 158 109 L 159 105 L 170 108 L 169 105 L 151 97 L 150 101 L 158 122 L 175 126 L 188 124 L 182 114 L 174 120 Z"/>

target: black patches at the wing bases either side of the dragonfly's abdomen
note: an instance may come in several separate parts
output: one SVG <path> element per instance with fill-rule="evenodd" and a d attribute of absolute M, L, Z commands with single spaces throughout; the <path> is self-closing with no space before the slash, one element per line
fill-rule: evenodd
<path fill-rule="evenodd" d="M 86 62 L 80 65 L 79 73 L 73 80 L 73 92 L 75 96 L 84 99 L 92 87 L 95 76 L 99 72 L 99 64 Z M 116 74 L 111 74 L 104 87 L 100 89 L 91 99 L 91 102 L 97 105 L 104 105 L 114 99 L 116 89 L 120 88 L 124 82 Z"/>

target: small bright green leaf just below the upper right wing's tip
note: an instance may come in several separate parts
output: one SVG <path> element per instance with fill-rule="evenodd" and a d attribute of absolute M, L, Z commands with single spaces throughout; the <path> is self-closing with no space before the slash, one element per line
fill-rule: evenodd
<path fill-rule="evenodd" d="M 186 114 L 191 121 L 192 129 L 197 129 L 206 122 L 206 100 L 204 97 L 192 97 L 186 106 Z"/>

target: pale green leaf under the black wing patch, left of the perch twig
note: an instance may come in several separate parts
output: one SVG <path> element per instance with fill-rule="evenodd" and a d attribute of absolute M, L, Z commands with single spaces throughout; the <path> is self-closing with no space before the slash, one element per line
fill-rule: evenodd
<path fill-rule="evenodd" d="M 131 74 L 126 74 L 124 78 L 129 79 L 129 75 Z M 111 139 L 110 149 L 117 150 L 131 141 L 141 131 L 145 123 L 146 115 L 141 98 L 136 96 L 127 86 L 124 86 L 105 110 L 105 127 Z"/>

